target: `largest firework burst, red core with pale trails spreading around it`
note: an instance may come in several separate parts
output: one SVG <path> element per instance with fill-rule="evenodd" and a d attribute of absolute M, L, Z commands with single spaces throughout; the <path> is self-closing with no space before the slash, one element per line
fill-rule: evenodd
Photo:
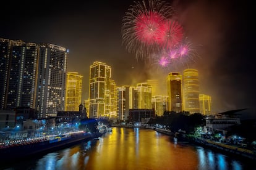
<path fill-rule="evenodd" d="M 137 59 L 150 59 L 161 51 L 164 24 L 174 13 L 164 1 L 135 2 L 122 20 L 122 44 Z"/>

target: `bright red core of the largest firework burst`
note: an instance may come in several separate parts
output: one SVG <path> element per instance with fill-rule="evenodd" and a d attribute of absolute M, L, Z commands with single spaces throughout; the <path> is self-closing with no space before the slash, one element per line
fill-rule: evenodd
<path fill-rule="evenodd" d="M 155 11 L 142 13 L 135 22 L 135 35 L 145 44 L 154 44 L 160 41 L 163 30 L 164 17 Z"/>

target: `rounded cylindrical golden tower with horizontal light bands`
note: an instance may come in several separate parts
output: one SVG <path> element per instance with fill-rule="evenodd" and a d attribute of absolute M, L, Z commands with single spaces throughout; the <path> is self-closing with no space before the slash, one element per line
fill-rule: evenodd
<path fill-rule="evenodd" d="M 186 69 L 183 71 L 184 111 L 200 113 L 198 71 Z"/>

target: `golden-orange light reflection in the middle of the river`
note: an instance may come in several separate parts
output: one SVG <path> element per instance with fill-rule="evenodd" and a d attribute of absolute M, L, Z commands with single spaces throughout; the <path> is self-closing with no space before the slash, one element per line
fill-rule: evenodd
<path fill-rule="evenodd" d="M 113 127 L 93 147 L 85 169 L 197 169 L 195 150 L 170 140 L 150 129 Z"/>

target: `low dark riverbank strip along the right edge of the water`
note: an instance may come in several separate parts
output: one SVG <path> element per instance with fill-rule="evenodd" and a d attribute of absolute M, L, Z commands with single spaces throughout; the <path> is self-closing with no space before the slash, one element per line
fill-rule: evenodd
<path fill-rule="evenodd" d="M 238 156 L 239 158 L 250 158 L 250 160 L 256 160 L 256 152 L 254 150 L 248 150 L 246 148 L 237 147 L 234 145 L 223 144 L 221 142 L 216 142 L 209 139 L 203 139 L 201 137 L 195 137 L 189 134 L 182 134 L 182 136 L 177 136 L 177 133 L 173 133 L 170 130 L 161 129 L 155 126 L 134 126 L 134 125 L 122 125 L 122 124 L 112 124 L 112 127 L 129 127 L 129 128 L 145 128 L 152 129 L 156 132 L 160 132 L 166 134 L 168 136 L 173 137 L 174 142 L 186 142 L 189 144 L 194 144 L 204 148 L 210 148 L 211 150 L 215 150 L 226 155 Z"/>

